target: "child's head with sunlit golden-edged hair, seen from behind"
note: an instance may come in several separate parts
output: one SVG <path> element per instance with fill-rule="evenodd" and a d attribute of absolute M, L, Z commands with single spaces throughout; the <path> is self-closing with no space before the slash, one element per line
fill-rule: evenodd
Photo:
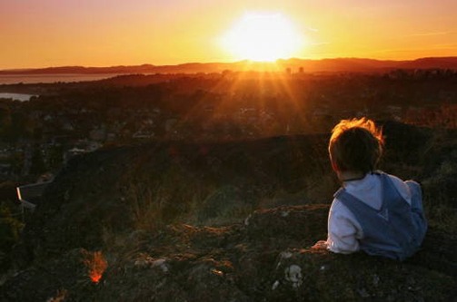
<path fill-rule="evenodd" d="M 382 147 L 382 132 L 372 120 L 342 120 L 329 142 L 333 170 L 368 173 L 381 158 Z"/>

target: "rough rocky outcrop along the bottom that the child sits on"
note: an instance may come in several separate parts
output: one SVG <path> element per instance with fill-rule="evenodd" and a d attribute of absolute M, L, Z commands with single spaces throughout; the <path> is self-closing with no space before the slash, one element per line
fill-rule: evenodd
<path fill-rule="evenodd" d="M 440 249 L 430 244 L 405 262 L 304 248 L 319 236 L 317 229 L 324 230 L 326 208 L 280 207 L 255 212 L 255 223 L 248 226 L 177 225 L 142 235 L 143 243 L 135 249 L 106 255 L 111 260 L 98 283 L 91 281 L 88 269 L 96 266 L 87 265 L 96 253 L 74 249 L 10 278 L 0 297 L 26 301 L 65 293 L 68 300 L 96 301 L 445 301 L 457 294 L 452 269 L 443 269 L 437 258 L 426 264 L 430 255 L 439 255 Z M 299 217 L 306 217 L 316 232 L 302 239 L 298 231 L 282 236 L 289 228 L 285 222 L 293 225 Z M 457 247 L 457 240 L 447 239 L 447 244 Z M 452 252 L 445 255 L 442 264 L 455 266 Z"/>

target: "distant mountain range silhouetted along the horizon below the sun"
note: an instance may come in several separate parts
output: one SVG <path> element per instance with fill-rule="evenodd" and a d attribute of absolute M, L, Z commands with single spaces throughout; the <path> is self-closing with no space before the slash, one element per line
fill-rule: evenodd
<path fill-rule="evenodd" d="M 235 63 L 183 63 L 176 65 L 134 65 L 111 67 L 62 66 L 37 69 L 0 70 L 0 74 L 98 74 L 98 73 L 221 73 L 237 71 L 283 71 L 291 68 L 297 72 L 385 72 L 392 69 L 453 69 L 457 70 L 457 56 L 430 57 L 411 61 L 389 61 L 359 58 L 337 58 L 323 60 L 288 59 L 276 63 L 240 61 Z"/>

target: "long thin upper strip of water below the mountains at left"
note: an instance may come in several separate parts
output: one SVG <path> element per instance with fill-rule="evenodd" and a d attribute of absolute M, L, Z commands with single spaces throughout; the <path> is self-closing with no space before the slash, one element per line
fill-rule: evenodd
<path fill-rule="evenodd" d="M 57 74 L 0 74 L 0 84 L 14 83 L 56 83 L 56 82 L 84 82 L 97 81 L 112 78 L 116 73 L 98 74 L 77 74 L 77 73 L 57 73 Z"/>

